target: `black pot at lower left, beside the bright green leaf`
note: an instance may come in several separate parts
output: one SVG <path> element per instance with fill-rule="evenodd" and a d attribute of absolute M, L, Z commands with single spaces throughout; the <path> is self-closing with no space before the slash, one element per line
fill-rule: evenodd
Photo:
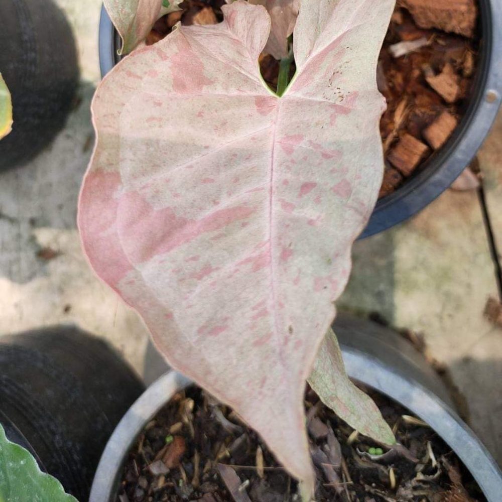
<path fill-rule="evenodd" d="M 106 441 L 143 390 L 108 345 L 77 328 L 0 338 L 0 423 L 79 500 L 87 500 Z"/>

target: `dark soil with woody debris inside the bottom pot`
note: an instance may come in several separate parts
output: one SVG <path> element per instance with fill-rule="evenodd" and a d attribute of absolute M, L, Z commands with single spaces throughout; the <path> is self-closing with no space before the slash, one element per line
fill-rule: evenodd
<path fill-rule="evenodd" d="M 449 447 L 407 410 L 372 394 L 399 447 L 357 435 L 308 391 L 315 500 L 485 500 Z M 130 451 L 117 502 L 288 502 L 290 478 L 258 435 L 197 387 L 174 396 Z"/>

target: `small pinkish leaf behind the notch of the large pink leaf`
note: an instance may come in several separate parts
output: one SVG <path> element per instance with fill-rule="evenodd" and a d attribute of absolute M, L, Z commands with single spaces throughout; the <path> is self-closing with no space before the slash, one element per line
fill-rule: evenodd
<path fill-rule="evenodd" d="M 272 29 L 264 51 L 276 59 L 288 56 L 288 37 L 293 33 L 300 0 L 248 0 L 263 5 L 270 14 Z"/>

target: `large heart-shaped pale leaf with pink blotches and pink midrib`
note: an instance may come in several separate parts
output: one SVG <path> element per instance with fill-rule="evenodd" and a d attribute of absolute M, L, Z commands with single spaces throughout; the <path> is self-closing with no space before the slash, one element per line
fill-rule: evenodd
<path fill-rule="evenodd" d="M 176 369 L 313 489 L 303 393 L 383 173 L 376 61 L 394 0 L 300 10 L 272 93 L 260 6 L 181 27 L 99 85 L 78 224 L 98 276 Z"/>

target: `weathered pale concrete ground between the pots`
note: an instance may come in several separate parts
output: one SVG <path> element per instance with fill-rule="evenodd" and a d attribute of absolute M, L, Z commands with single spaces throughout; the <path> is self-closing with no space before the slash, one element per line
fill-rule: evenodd
<path fill-rule="evenodd" d="M 74 29 L 81 102 L 37 159 L 0 173 L 0 333 L 75 323 L 109 340 L 143 374 L 147 330 L 90 271 L 75 227 L 93 140 L 101 0 L 56 3 Z M 502 239 L 502 115 L 479 158 Z M 422 333 L 465 397 L 471 426 L 502 463 L 502 329 L 482 315 L 489 295 L 496 283 L 476 193 L 448 190 L 413 219 L 355 244 L 339 306 Z"/>

